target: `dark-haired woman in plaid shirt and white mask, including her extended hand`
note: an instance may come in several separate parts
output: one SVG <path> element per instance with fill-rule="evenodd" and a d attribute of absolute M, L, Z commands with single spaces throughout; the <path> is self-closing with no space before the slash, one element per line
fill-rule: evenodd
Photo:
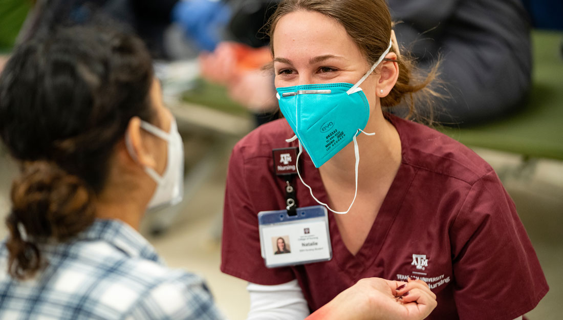
<path fill-rule="evenodd" d="M 0 137 L 21 168 L 0 318 L 223 318 L 137 231 L 147 208 L 180 201 L 184 159 L 140 39 L 92 24 L 22 43 L 0 75 Z M 425 318 L 435 295 L 417 286 L 397 303 L 404 283 L 363 279 L 310 319 Z"/>

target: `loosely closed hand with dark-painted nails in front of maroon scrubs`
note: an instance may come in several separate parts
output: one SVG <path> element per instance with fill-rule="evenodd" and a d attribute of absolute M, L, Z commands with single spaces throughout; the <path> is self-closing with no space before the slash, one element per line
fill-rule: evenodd
<path fill-rule="evenodd" d="M 365 278 L 342 291 L 307 320 L 421 320 L 436 305 L 436 295 L 421 280 Z"/>

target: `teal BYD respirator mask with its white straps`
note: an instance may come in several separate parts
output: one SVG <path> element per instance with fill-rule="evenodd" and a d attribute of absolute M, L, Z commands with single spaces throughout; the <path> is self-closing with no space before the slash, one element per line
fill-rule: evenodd
<path fill-rule="evenodd" d="M 336 214 L 346 214 L 350 211 L 358 193 L 360 154 L 356 136 L 360 132 L 374 135 L 374 133 L 367 134 L 363 131 L 368 124 L 369 103 L 360 85 L 383 61 L 391 50 L 391 45 L 392 41 L 389 42 L 387 50 L 355 85 L 342 82 L 276 88 L 280 110 L 295 133 L 295 136 L 286 141 L 291 142 L 298 139 L 297 163 L 303 151 L 302 148 L 305 148 L 313 164 L 318 168 L 346 145 L 354 142 L 356 191 L 354 199 L 346 211 L 334 211 L 326 203 L 315 198 L 311 187 L 303 181 L 297 167 L 297 174 L 301 182 L 309 188 L 315 201 Z"/>

